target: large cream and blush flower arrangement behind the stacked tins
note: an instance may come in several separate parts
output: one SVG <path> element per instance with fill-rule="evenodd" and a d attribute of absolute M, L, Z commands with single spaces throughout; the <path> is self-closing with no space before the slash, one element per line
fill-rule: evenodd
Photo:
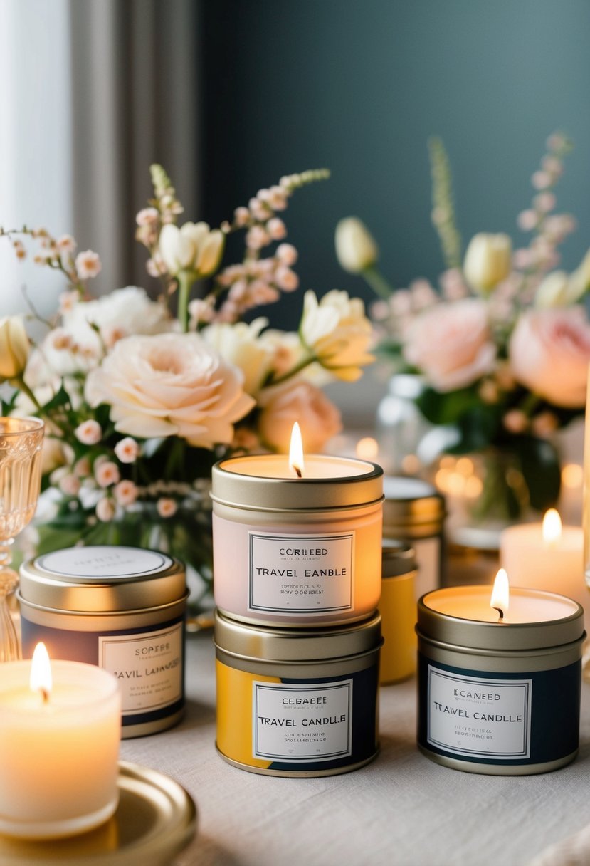
<path fill-rule="evenodd" d="M 327 176 L 281 178 L 210 229 L 176 224 L 183 207 L 153 165 L 154 198 L 138 213 L 136 237 L 149 252 L 148 273 L 162 283 L 156 301 L 137 287 L 93 298 L 88 285 L 100 261 L 92 250 L 76 253 L 73 237 L 46 229 L 0 229 L 19 259 L 33 246 L 35 262 L 67 283 L 35 345 L 23 316 L 0 320 L 0 382 L 14 389 L 3 414 L 46 422 L 43 488 L 53 513 L 38 527 L 39 550 L 159 546 L 196 565 L 207 589 L 213 463 L 287 449 L 295 420 L 308 450 L 340 430 L 320 389 L 334 378 L 354 381 L 372 360 L 362 301 L 308 291 L 292 333 L 262 317 L 244 320 L 298 288 L 298 252 L 285 242 L 279 212 L 294 191 Z M 243 261 L 222 267 L 225 238 L 240 230 Z"/>

